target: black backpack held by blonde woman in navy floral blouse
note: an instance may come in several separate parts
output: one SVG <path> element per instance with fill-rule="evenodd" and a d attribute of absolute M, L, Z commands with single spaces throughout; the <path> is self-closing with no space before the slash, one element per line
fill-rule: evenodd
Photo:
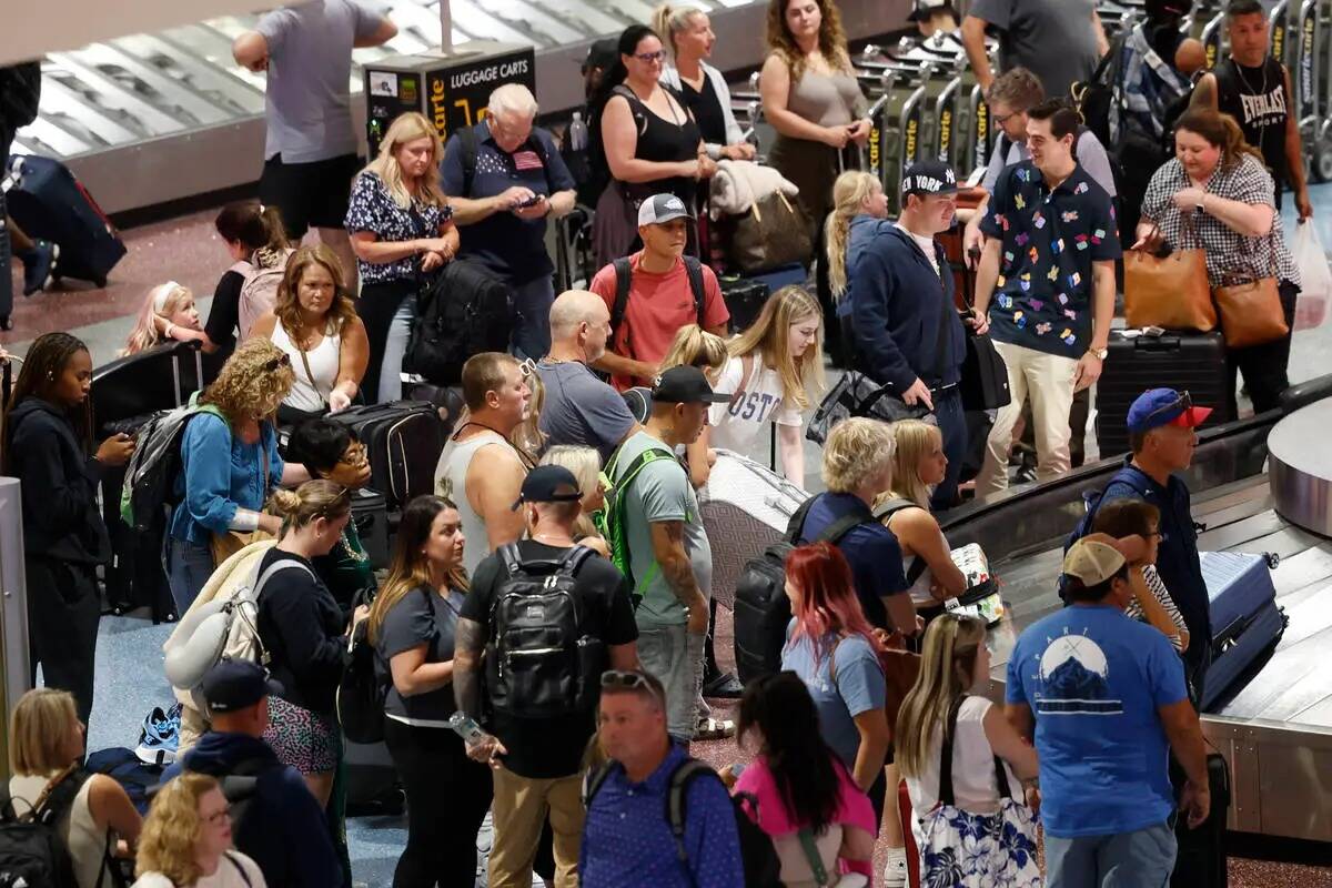
<path fill-rule="evenodd" d="M 509 285 L 472 260 L 453 260 L 417 293 L 417 320 L 402 361 L 434 385 L 458 385 L 473 354 L 506 351 Z"/>

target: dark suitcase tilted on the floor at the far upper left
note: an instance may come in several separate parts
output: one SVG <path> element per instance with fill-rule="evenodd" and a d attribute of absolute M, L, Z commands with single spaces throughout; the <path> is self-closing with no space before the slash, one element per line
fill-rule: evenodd
<path fill-rule="evenodd" d="M 13 184 L 9 216 L 33 240 L 60 248 L 55 277 L 77 277 L 107 286 L 107 276 L 125 254 L 125 244 L 73 173 L 60 161 L 32 154 L 9 158 Z"/>

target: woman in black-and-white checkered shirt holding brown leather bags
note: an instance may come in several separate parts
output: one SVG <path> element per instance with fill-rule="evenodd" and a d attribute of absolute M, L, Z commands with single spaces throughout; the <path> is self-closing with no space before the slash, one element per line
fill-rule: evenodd
<path fill-rule="evenodd" d="M 1134 249 L 1155 249 L 1163 241 L 1176 249 L 1201 246 L 1213 289 L 1256 281 L 1275 269 L 1289 326 L 1300 273 L 1285 246 L 1273 189 L 1261 154 L 1244 141 L 1235 118 L 1193 108 L 1175 128 L 1175 160 L 1166 161 L 1147 186 Z M 1289 385 L 1289 332 L 1275 342 L 1232 349 L 1232 410 L 1236 370 L 1244 374 L 1256 413 L 1276 407 Z"/>

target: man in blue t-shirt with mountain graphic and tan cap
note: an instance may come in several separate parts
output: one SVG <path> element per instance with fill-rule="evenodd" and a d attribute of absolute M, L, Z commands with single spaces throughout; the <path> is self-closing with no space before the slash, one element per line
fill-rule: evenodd
<path fill-rule="evenodd" d="M 1128 562 L 1103 534 L 1064 556 L 1072 604 L 1022 634 L 1008 662 L 1007 716 L 1040 754 L 1028 787 L 1046 827 L 1047 888 L 1164 885 L 1175 867 L 1173 752 L 1188 776 L 1188 825 L 1211 796 L 1184 668 L 1159 631 L 1124 615 Z"/>

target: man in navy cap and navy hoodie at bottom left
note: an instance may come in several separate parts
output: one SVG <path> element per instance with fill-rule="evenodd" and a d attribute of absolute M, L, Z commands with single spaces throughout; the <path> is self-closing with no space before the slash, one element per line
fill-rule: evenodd
<path fill-rule="evenodd" d="M 278 762 L 264 742 L 268 696 L 281 690 L 257 663 L 214 666 L 202 686 L 213 730 L 163 779 L 184 770 L 222 780 L 233 819 L 240 815 L 233 824 L 236 849 L 254 859 L 269 885 L 336 888 L 344 875 L 328 819 L 300 772 Z M 250 779 L 253 788 L 241 785 Z"/>

